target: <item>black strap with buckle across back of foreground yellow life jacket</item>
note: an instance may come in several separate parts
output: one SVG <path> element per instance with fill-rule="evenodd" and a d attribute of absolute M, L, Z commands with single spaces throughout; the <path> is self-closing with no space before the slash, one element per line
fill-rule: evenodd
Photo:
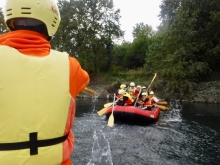
<path fill-rule="evenodd" d="M 67 135 L 53 139 L 37 140 L 37 132 L 32 132 L 29 134 L 29 141 L 15 143 L 0 143 L 0 151 L 21 150 L 30 148 L 30 155 L 37 155 L 38 147 L 47 147 L 62 143 L 67 139 L 68 135 L 69 133 Z"/>

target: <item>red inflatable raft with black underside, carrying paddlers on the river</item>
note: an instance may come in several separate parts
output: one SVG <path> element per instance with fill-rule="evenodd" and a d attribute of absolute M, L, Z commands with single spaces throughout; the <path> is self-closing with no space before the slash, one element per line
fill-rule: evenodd
<path fill-rule="evenodd" d="M 108 118 L 112 113 L 112 107 L 106 111 Z M 128 124 L 146 125 L 157 121 L 160 109 L 154 107 L 151 110 L 143 110 L 135 106 L 114 106 L 114 121 Z"/>

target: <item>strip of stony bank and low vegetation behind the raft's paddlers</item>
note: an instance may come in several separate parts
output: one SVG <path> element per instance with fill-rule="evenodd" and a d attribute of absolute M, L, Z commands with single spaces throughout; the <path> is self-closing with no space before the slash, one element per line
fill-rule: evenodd
<path fill-rule="evenodd" d="M 104 77 L 108 77 L 107 79 Z M 110 79 L 110 80 L 109 80 Z M 136 81 L 135 81 L 136 80 Z M 100 95 L 92 96 L 85 93 L 80 93 L 78 98 L 98 98 L 98 99 L 113 99 L 114 92 L 119 88 L 120 84 L 129 85 L 132 80 L 116 78 L 114 76 L 92 76 L 91 82 L 88 86 L 89 89 L 95 90 Z M 150 79 L 144 81 L 143 79 L 135 78 L 133 79 L 136 86 L 148 86 L 150 84 Z M 200 82 L 191 84 L 191 88 L 187 86 L 184 90 L 173 89 L 172 82 L 162 81 L 159 78 L 151 85 L 152 90 L 155 92 L 157 97 L 164 99 L 166 101 L 180 101 L 180 102 L 195 102 L 195 103 L 210 103 L 210 104 L 220 104 L 220 80 Z M 181 93 L 182 92 L 182 93 Z"/>

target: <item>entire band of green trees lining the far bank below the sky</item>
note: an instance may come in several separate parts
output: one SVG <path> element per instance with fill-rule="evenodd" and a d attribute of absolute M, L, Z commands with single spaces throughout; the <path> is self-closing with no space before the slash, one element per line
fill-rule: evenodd
<path fill-rule="evenodd" d="M 133 42 L 120 45 L 114 41 L 124 32 L 113 0 L 59 0 L 58 7 L 62 20 L 52 47 L 76 57 L 91 75 L 108 73 L 103 81 L 141 82 L 157 73 L 164 93 L 184 98 L 197 82 L 220 77 L 219 0 L 162 0 L 158 31 L 137 23 Z"/>

